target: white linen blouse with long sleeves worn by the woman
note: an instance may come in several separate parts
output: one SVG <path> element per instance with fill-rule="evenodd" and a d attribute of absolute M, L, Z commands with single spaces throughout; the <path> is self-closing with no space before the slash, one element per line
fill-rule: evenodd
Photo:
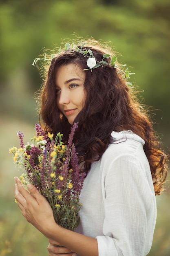
<path fill-rule="evenodd" d="M 111 136 L 84 180 L 76 232 L 97 238 L 99 256 L 146 256 L 157 209 L 145 142 L 131 131 Z"/>

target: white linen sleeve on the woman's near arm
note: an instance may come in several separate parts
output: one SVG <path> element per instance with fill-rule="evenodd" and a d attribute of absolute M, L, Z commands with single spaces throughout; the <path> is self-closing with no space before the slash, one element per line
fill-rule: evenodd
<path fill-rule="evenodd" d="M 148 173 L 151 176 L 149 166 Z M 104 172 L 104 236 L 96 237 L 99 256 L 148 254 L 156 211 L 153 184 L 149 184 L 148 175 L 141 159 L 128 154 L 117 157 Z M 146 239 L 151 242 L 146 243 Z"/>

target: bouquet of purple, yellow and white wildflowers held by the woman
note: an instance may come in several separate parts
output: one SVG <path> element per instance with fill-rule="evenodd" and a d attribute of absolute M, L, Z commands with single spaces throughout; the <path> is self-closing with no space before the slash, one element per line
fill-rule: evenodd
<path fill-rule="evenodd" d="M 22 184 L 32 183 L 48 200 L 58 225 L 72 231 L 79 225 L 79 194 L 84 173 L 79 172 L 75 146 L 72 143 L 77 123 L 71 128 L 68 145 L 62 142 L 62 134 L 48 135 L 39 124 L 35 125 L 33 144 L 24 146 L 23 133 L 18 132 L 20 148 L 10 148 L 14 164 L 24 168 L 20 176 Z M 71 166 L 71 168 L 70 168 Z"/>

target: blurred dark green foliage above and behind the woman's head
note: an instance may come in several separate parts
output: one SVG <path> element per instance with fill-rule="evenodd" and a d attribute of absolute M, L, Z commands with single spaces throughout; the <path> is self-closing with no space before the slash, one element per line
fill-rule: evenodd
<path fill-rule="evenodd" d="M 1 112 L 25 119 L 36 113 L 31 97 L 41 81 L 33 59 L 75 32 L 113 43 L 135 71 L 144 103 L 156 109 L 156 129 L 169 146 L 169 13 L 169 0 L 1 0 Z"/>

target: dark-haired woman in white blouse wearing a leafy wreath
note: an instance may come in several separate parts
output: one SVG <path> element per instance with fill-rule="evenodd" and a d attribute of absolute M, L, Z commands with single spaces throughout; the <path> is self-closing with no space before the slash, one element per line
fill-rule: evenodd
<path fill-rule="evenodd" d="M 52 56 L 40 93 L 46 132 L 64 134 L 78 122 L 74 143 L 81 171 L 76 232 L 57 225 L 45 198 L 15 177 L 22 214 L 49 238 L 49 255 L 144 256 L 156 221 L 155 195 L 166 178 L 166 155 L 126 81 L 115 52 L 95 40 L 65 45 Z M 46 58 L 45 58 L 46 59 Z"/>

